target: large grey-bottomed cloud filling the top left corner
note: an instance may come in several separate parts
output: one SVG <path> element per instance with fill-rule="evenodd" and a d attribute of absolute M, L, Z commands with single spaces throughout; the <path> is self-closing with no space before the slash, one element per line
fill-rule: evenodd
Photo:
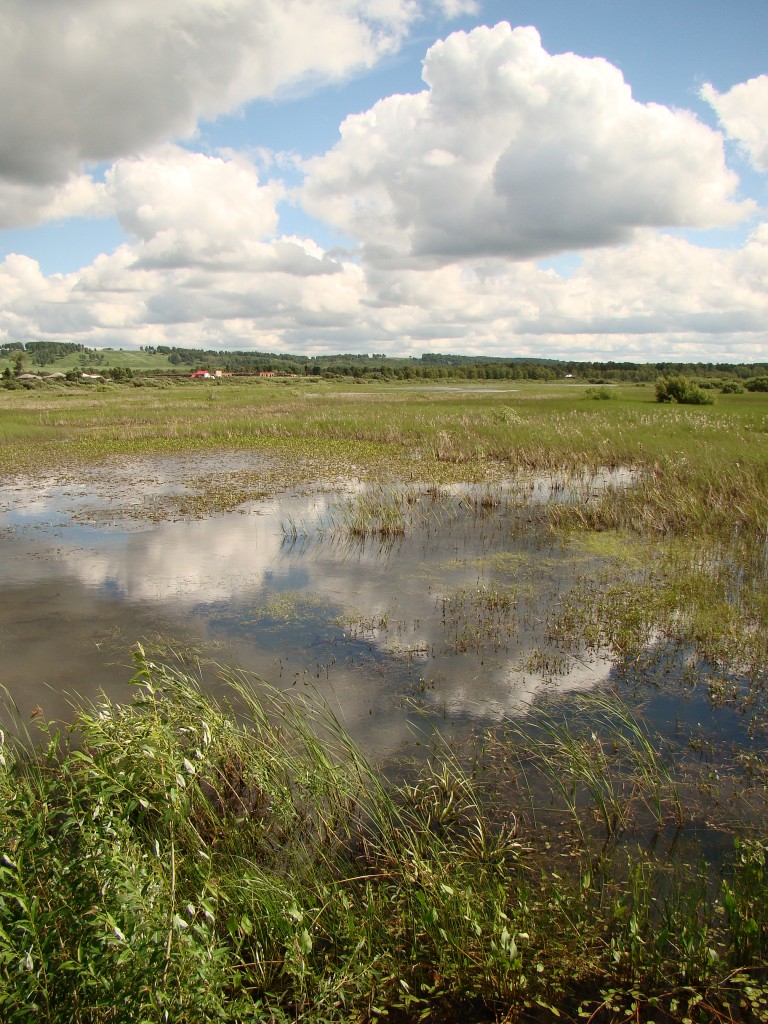
<path fill-rule="evenodd" d="M 414 0 L 0 0 L 0 92 L 12 97 L 0 105 L 0 183 L 42 190 L 23 204 L 37 222 L 47 189 L 84 165 L 371 67 L 418 13 Z M 0 188 L 0 226 L 22 221 Z"/>

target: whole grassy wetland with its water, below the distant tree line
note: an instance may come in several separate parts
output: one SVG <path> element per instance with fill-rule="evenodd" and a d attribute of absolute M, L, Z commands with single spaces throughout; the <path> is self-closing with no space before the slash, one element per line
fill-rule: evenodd
<path fill-rule="evenodd" d="M 765 1019 L 763 395 L 0 401 L 9 1020 Z"/>

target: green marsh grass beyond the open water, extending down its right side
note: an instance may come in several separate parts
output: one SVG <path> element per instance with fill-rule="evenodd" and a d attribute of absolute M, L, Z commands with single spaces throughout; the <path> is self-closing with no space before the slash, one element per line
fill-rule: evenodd
<path fill-rule="evenodd" d="M 153 518 L 211 515 L 285 487 L 332 487 L 355 476 L 370 489 L 332 525 L 383 538 L 418 522 L 419 488 L 437 496 L 436 507 L 442 485 L 479 483 L 488 488 L 484 511 L 496 515 L 500 501 L 525 500 L 524 487 L 500 498 L 499 481 L 624 467 L 632 486 L 593 495 L 580 484 L 577 500 L 537 512 L 548 528 L 589 542 L 604 562 L 564 595 L 553 641 L 587 642 L 622 660 L 652 642 L 659 649 L 664 638 L 668 652 L 693 652 L 713 693 L 763 717 L 768 395 L 684 407 L 656 402 L 652 387 L 607 393 L 595 400 L 592 390 L 564 383 L 350 390 L 322 380 L 234 379 L 0 390 L 0 469 L 33 479 L 92 472 L 103 481 L 111 467 L 133 466 L 140 492 L 151 458 L 187 459 L 183 495 L 153 500 L 151 512 L 131 510 Z M 253 463 L 231 466 L 231 455 L 243 453 Z M 205 471 L 196 473 L 203 455 Z"/>

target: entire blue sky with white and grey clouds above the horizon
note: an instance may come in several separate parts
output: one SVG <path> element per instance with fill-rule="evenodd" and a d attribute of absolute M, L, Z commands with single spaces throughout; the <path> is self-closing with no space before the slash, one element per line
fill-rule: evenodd
<path fill-rule="evenodd" d="M 0 0 L 0 343 L 768 361 L 768 0 Z"/>

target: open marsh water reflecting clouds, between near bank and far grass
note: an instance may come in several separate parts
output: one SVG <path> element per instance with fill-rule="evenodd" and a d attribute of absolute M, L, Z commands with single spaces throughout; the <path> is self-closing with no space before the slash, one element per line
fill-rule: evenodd
<path fill-rule="evenodd" d="M 198 485 L 220 469 L 196 460 Z M 228 469 L 258 465 L 244 457 Z M 551 612 L 597 564 L 540 521 L 547 503 L 571 499 L 572 481 L 416 488 L 408 528 L 382 536 L 348 528 L 366 490 L 354 480 L 178 515 L 189 472 L 166 459 L 0 489 L 0 683 L 23 720 L 38 709 L 67 720 L 99 691 L 130 699 L 137 643 L 194 665 L 211 687 L 217 666 L 237 666 L 317 693 L 380 758 L 615 673 L 587 651 L 552 653 Z M 589 496 L 628 482 L 614 472 L 579 486 Z M 650 702 L 668 725 L 716 728 L 700 702 Z M 717 728 L 727 722 L 717 716 Z"/>

